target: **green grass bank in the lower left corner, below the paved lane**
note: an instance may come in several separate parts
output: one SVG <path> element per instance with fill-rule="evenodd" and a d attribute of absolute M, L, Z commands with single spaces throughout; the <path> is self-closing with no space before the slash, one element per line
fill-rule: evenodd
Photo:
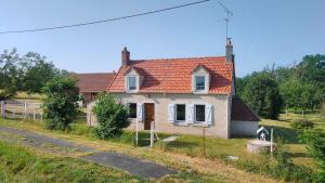
<path fill-rule="evenodd" d="M 148 182 L 70 157 L 37 154 L 0 141 L 0 182 Z"/>

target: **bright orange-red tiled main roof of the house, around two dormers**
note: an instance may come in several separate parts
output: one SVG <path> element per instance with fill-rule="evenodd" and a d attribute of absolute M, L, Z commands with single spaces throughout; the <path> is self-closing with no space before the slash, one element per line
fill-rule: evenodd
<path fill-rule="evenodd" d="M 209 71 L 208 93 L 229 94 L 232 88 L 233 64 L 224 56 L 140 60 L 122 66 L 107 88 L 108 92 L 125 92 L 125 73 L 133 67 L 144 76 L 139 93 L 192 93 L 192 71 L 203 65 Z"/>

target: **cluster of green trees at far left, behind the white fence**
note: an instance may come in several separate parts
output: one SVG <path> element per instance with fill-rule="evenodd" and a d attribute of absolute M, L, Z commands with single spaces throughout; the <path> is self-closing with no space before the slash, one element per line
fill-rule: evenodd
<path fill-rule="evenodd" d="M 68 73 L 39 53 L 21 55 L 16 49 L 4 50 L 0 53 L 0 100 L 13 97 L 17 91 L 41 93 L 49 80 L 62 75 Z"/>

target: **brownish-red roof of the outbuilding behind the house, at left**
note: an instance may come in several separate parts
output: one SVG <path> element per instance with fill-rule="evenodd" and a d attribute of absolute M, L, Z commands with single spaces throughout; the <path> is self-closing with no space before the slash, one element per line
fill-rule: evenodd
<path fill-rule="evenodd" d="M 113 73 L 94 73 L 94 74 L 76 74 L 80 93 L 98 93 L 105 91 L 110 80 L 114 78 Z"/>

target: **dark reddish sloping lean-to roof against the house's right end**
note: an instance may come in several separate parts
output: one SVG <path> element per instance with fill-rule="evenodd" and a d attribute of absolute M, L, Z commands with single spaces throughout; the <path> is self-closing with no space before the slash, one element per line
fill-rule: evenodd
<path fill-rule="evenodd" d="M 260 121 L 260 118 L 238 96 L 233 96 L 232 120 Z"/>

